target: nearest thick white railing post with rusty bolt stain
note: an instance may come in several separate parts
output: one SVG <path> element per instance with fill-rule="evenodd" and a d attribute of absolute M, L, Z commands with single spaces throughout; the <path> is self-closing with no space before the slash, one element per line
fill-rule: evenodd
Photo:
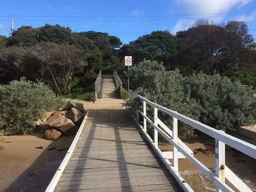
<path fill-rule="evenodd" d="M 224 131 L 220 131 L 223 132 Z M 215 174 L 225 183 L 225 143 L 215 139 Z M 216 192 L 221 192 L 216 186 Z"/>

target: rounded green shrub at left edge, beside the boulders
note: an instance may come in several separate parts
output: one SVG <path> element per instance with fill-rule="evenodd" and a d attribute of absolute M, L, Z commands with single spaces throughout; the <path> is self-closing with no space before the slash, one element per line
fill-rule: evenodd
<path fill-rule="evenodd" d="M 27 134 L 46 110 L 59 109 L 63 104 L 42 81 L 31 82 L 23 77 L 0 85 L 0 129 Z"/>

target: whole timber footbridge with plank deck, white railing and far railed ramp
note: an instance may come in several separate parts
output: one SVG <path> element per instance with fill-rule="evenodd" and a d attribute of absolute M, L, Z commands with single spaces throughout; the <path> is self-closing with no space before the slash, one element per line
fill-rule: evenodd
<path fill-rule="evenodd" d="M 102 75 L 100 71 L 95 95 L 102 90 L 103 98 L 96 102 L 113 101 L 114 106 L 116 89 L 122 90 L 117 73 Z M 207 176 L 215 184 L 216 191 L 252 191 L 225 165 L 225 145 L 256 159 L 255 145 L 157 105 L 132 91 L 130 94 L 141 100 L 143 111 L 138 111 L 133 119 L 127 110 L 114 107 L 88 111 L 46 192 L 193 191 L 179 173 L 178 159 L 181 158 L 187 158 Z M 154 110 L 153 120 L 146 115 L 147 106 Z M 172 127 L 167 127 L 158 118 L 158 111 L 172 118 Z M 215 138 L 214 172 L 196 159 L 193 151 L 179 139 L 178 121 Z M 147 127 L 154 129 L 152 138 Z M 159 134 L 173 146 L 172 151 L 163 152 L 158 148 Z M 232 188 L 225 179 L 233 184 Z"/>

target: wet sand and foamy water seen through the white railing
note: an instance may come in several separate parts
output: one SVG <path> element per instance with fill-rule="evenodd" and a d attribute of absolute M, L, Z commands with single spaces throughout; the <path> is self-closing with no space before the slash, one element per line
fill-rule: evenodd
<path fill-rule="evenodd" d="M 240 135 L 240 139 L 242 137 Z M 196 159 L 214 172 L 215 140 L 212 137 L 201 133 L 197 138 L 186 139 L 183 142 L 194 151 Z M 159 144 L 159 148 L 162 151 L 172 151 L 172 146 L 168 143 Z M 228 145 L 225 155 L 226 165 L 253 191 L 256 191 L 256 160 Z M 171 159 L 169 161 L 172 162 Z M 179 172 L 194 191 L 215 191 L 215 185 L 189 160 L 179 159 Z M 226 183 L 233 188 L 228 181 Z"/>

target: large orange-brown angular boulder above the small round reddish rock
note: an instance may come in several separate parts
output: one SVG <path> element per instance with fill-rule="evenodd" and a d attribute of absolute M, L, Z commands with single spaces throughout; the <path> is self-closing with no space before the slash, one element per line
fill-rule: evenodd
<path fill-rule="evenodd" d="M 76 126 L 73 122 L 58 113 L 55 113 L 47 119 L 47 121 L 44 122 L 44 125 L 47 125 L 48 128 L 57 129 L 66 136 L 73 135 L 76 132 Z"/>

